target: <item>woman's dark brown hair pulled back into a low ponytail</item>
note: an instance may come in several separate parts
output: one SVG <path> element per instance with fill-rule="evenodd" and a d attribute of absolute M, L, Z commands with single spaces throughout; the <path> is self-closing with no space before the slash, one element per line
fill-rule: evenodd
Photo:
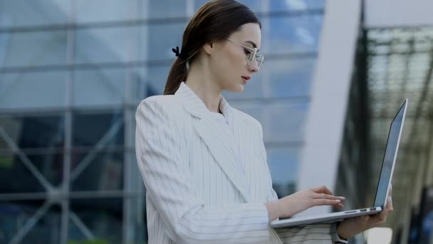
<path fill-rule="evenodd" d="M 174 94 L 187 79 L 187 63 L 191 64 L 204 44 L 227 38 L 248 23 L 257 23 L 261 28 L 256 14 L 244 4 L 234 0 L 213 0 L 204 4 L 184 31 L 181 54 L 172 64 L 164 95 Z"/>

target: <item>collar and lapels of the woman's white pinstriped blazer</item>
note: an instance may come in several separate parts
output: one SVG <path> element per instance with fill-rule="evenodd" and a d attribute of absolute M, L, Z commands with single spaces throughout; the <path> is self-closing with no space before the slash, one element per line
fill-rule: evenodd
<path fill-rule="evenodd" d="M 230 134 L 221 125 L 212 120 L 210 117 L 211 112 L 204 105 L 203 101 L 184 82 L 181 83 L 175 95 L 182 98 L 184 108 L 192 116 L 199 118 L 194 121 L 194 128 L 200 138 L 206 143 L 215 161 L 226 173 L 226 176 L 236 186 L 246 202 L 249 202 L 251 197 L 246 187 L 245 175 L 239 167 L 241 162 L 237 162 L 241 158 L 234 148 L 233 134 Z M 224 116 L 229 119 L 229 122 L 233 121 L 233 114 L 230 111 L 231 107 L 224 98 L 221 98 L 220 108 Z"/>

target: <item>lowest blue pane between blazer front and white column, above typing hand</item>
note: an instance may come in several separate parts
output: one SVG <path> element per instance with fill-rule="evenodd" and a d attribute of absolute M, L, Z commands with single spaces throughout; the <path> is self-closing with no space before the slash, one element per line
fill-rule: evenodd
<path fill-rule="evenodd" d="M 266 148 L 273 189 L 278 197 L 290 195 L 298 180 L 301 148 Z"/>

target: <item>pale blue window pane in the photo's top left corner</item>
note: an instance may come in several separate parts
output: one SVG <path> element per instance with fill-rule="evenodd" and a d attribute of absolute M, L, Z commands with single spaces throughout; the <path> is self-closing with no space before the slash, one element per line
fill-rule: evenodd
<path fill-rule="evenodd" d="M 64 0 L 2 0 L 0 27 L 65 24 L 68 6 Z"/>

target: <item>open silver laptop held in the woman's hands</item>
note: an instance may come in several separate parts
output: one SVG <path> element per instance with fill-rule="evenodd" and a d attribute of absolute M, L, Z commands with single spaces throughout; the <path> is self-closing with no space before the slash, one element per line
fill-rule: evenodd
<path fill-rule="evenodd" d="M 325 213 L 321 215 L 308 215 L 288 218 L 284 220 L 273 220 L 272 228 L 286 228 L 291 226 L 309 225 L 315 223 L 332 223 L 341 221 L 345 218 L 353 218 L 361 215 L 372 215 L 382 211 L 387 203 L 387 195 L 390 191 L 392 181 L 392 173 L 395 168 L 398 146 L 402 135 L 403 123 L 405 122 L 407 109 L 407 98 L 400 107 L 395 118 L 392 120 L 390 132 L 388 133 L 387 145 L 385 148 L 385 156 L 382 161 L 382 169 L 380 171 L 379 182 L 377 183 L 375 203 L 369 208 L 361 208 L 355 210 L 345 210 L 335 213 Z"/>

